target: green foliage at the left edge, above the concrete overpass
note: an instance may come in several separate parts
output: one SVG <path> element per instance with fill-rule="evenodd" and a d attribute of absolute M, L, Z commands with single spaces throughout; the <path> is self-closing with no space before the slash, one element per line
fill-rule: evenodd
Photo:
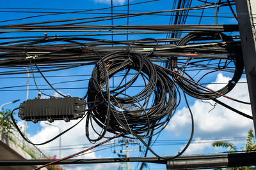
<path fill-rule="evenodd" d="M 6 136 L 14 129 L 11 113 L 11 110 L 0 111 L 0 132 Z"/>

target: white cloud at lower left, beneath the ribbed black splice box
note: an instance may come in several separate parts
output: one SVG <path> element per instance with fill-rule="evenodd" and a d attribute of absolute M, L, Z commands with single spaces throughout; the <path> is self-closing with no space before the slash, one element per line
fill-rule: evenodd
<path fill-rule="evenodd" d="M 59 126 L 61 128 L 61 132 L 62 132 L 62 131 L 65 131 L 65 129 L 68 129 L 68 127 L 71 127 L 72 125 L 76 124 L 79 120 L 70 120 L 70 122 L 68 122 L 68 123 L 63 121 L 63 120 L 58 120 L 58 121 L 54 121 L 51 124 Z M 42 127 L 41 131 L 38 132 L 37 134 L 35 134 L 34 136 L 29 136 L 29 139 L 33 143 L 42 143 L 44 141 L 47 141 L 47 140 L 53 138 L 54 136 L 56 136 L 60 133 L 58 127 L 52 127 L 51 125 L 45 124 L 45 122 L 40 122 L 40 125 Z M 64 148 L 64 146 L 67 146 L 67 145 L 68 145 L 68 148 L 76 147 L 75 145 L 89 145 L 90 144 L 90 146 L 93 146 L 93 144 L 91 144 L 85 136 L 84 126 L 85 126 L 85 118 L 76 127 L 71 129 L 67 133 L 63 134 L 61 136 L 61 146 L 62 146 L 62 148 Z M 95 128 L 99 129 L 99 128 L 97 128 L 97 126 L 95 126 Z M 91 130 L 90 132 L 92 132 L 90 137 L 94 138 L 94 139 L 97 138 L 97 134 L 95 134 L 92 131 L 92 129 L 90 129 L 90 130 Z M 109 136 L 111 136 L 111 135 L 109 135 Z M 57 138 L 54 141 L 52 141 L 51 143 L 48 143 L 48 144 L 45 144 L 45 145 L 40 145 L 40 146 L 37 146 L 37 147 L 40 150 L 42 150 L 42 152 L 46 156 L 53 157 L 54 155 L 56 155 L 57 159 L 58 159 L 59 158 L 58 147 L 59 147 L 59 142 L 60 142 L 59 139 L 60 138 Z M 54 146 L 54 149 L 51 150 L 51 148 L 53 146 Z M 86 149 L 86 148 L 81 148 L 81 146 L 78 146 L 78 147 L 79 148 L 72 149 L 72 150 L 61 150 L 61 158 L 67 157 L 68 155 L 72 155 L 74 153 L 77 153 L 77 152 L 80 152 L 80 151 Z M 74 159 L 99 159 L 100 157 L 101 156 L 96 155 L 95 152 L 90 153 L 90 151 L 89 151 L 88 154 L 84 154 L 84 155 L 76 157 Z M 117 169 L 119 164 L 118 163 L 117 164 L 84 164 L 84 165 L 78 164 L 78 165 L 69 165 L 69 166 L 70 167 L 65 166 L 64 168 L 67 169 L 67 170 L 71 170 L 71 169 L 76 169 L 76 170 L 80 170 L 80 169 L 95 169 L 95 170 L 96 169 L 106 169 L 107 170 L 107 169 Z"/>

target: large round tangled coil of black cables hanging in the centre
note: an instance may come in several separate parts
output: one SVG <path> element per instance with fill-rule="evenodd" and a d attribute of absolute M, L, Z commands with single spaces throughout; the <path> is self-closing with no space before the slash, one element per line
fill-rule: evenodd
<path fill-rule="evenodd" d="M 136 73 L 123 83 L 124 76 L 119 85 L 110 90 L 108 79 L 122 71 L 126 71 L 125 76 Z M 141 80 L 143 89 L 129 94 L 134 93 L 132 86 Z M 92 108 L 86 119 L 86 136 L 90 141 L 102 139 L 107 131 L 124 132 L 127 138 L 147 138 L 150 131 L 158 129 L 154 134 L 162 131 L 172 118 L 177 108 L 177 90 L 168 74 L 145 55 L 117 52 L 97 62 L 89 82 L 87 102 L 88 108 Z M 92 120 L 102 128 L 100 133 L 93 128 L 99 135 L 97 139 L 89 136 Z"/>

